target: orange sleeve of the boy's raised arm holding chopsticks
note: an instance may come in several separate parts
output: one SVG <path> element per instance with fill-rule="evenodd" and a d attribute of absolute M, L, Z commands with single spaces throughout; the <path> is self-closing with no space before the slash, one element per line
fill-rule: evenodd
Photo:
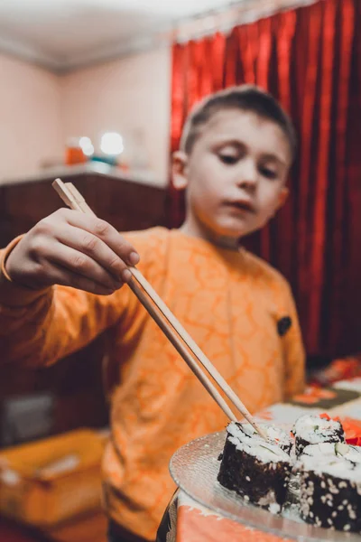
<path fill-rule="evenodd" d="M 125 237 L 135 240 L 141 255 L 138 268 L 146 275 L 150 259 L 146 249 L 152 244 L 147 236 Z M 6 249 L 0 252 L 1 259 L 6 255 Z M 129 325 L 136 326 L 139 314 L 143 314 L 142 308 L 126 285 L 109 296 L 59 285 L 33 291 L 0 274 L 0 361 L 50 365 L 83 348 L 120 319 L 127 332 Z"/>

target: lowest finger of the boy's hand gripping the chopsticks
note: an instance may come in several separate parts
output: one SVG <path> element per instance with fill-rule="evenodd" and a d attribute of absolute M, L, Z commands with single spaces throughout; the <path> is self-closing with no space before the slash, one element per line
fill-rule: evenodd
<path fill-rule="evenodd" d="M 55 266 L 75 273 L 76 276 L 85 277 L 108 290 L 115 291 L 123 285 L 120 277 L 116 279 L 97 261 L 74 248 L 57 243 L 46 248 L 46 255 L 47 261 Z"/>

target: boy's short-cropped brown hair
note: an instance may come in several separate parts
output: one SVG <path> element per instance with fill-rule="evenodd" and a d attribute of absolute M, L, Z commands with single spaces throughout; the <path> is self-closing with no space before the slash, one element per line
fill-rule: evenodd
<path fill-rule="evenodd" d="M 254 85 L 241 85 L 220 90 L 202 100 L 186 120 L 180 138 L 180 149 L 190 154 L 199 137 L 200 128 L 218 111 L 234 108 L 251 111 L 280 126 L 289 141 L 292 157 L 294 157 L 297 137 L 291 118 L 271 94 Z"/>

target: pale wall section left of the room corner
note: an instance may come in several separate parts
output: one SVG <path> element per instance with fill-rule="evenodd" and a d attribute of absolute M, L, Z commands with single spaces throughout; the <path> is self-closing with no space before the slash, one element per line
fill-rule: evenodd
<path fill-rule="evenodd" d="M 36 173 L 63 154 L 59 78 L 0 55 L 0 178 Z"/>

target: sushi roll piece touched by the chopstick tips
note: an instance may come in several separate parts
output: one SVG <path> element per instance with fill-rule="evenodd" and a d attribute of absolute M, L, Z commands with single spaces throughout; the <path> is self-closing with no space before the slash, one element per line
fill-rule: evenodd
<path fill-rule="evenodd" d="M 255 433 L 252 425 L 232 422 L 227 426 L 218 481 L 245 501 L 279 512 L 292 472 L 288 453 L 292 441 L 277 427 L 264 426 L 264 430 L 269 442 Z"/>

